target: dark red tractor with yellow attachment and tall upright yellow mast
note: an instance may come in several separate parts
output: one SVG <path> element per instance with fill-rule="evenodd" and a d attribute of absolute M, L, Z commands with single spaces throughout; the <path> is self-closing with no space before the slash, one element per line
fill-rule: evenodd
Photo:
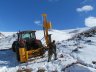
<path fill-rule="evenodd" d="M 46 46 L 51 42 L 51 35 L 48 34 L 48 30 L 52 27 L 51 23 L 47 21 L 47 15 L 43 16 L 43 31 L 46 41 Z M 36 31 L 19 31 L 17 33 L 18 39 L 13 42 L 12 50 L 16 53 L 17 60 L 19 62 L 27 62 L 29 58 L 43 56 L 46 46 L 42 45 L 40 40 L 36 39 Z"/>

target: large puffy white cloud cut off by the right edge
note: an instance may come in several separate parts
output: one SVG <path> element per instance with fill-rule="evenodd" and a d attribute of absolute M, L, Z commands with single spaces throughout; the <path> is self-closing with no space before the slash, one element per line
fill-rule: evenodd
<path fill-rule="evenodd" d="M 96 26 L 96 17 L 88 17 L 85 19 L 85 25 L 87 27 L 93 27 L 93 26 Z"/>

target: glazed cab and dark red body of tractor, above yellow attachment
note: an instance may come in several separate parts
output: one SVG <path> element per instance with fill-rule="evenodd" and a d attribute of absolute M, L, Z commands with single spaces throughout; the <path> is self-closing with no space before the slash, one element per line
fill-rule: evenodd
<path fill-rule="evenodd" d="M 41 41 L 36 39 L 35 32 L 36 31 L 19 32 L 18 41 L 20 41 L 22 43 L 20 45 L 23 45 L 25 42 L 25 47 L 27 50 L 32 50 L 32 49 L 37 49 L 37 48 L 42 47 Z"/>

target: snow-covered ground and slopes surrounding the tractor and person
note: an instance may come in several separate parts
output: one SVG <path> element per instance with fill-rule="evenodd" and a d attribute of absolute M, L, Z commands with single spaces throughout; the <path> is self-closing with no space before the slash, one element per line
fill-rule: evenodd
<path fill-rule="evenodd" d="M 17 72 L 18 69 L 29 68 L 32 72 L 45 70 L 45 72 L 96 72 L 96 35 L 91 37 L 73 36 L 87 31 L 89 28 L 79 28 L 71 30 L 50 30 L 52 40 L 56 40 L 58 60 L 47 62 L 47 52 L 44 58 L 30 59 L 27 63 L 20 64 L 16 60 L 16 55 L 10 50 L 16 34 L 1 32 L 6 37 L 0 39 L 0 72 Z M 14 34 L 14 35 L 13 35 Z M 43 31 L 36 32 L 37 39 L 43 38 Z M 42 39 L 44 44 L 44 39 Z M 5 50 L 4 50 L 5 49 Z"/>

